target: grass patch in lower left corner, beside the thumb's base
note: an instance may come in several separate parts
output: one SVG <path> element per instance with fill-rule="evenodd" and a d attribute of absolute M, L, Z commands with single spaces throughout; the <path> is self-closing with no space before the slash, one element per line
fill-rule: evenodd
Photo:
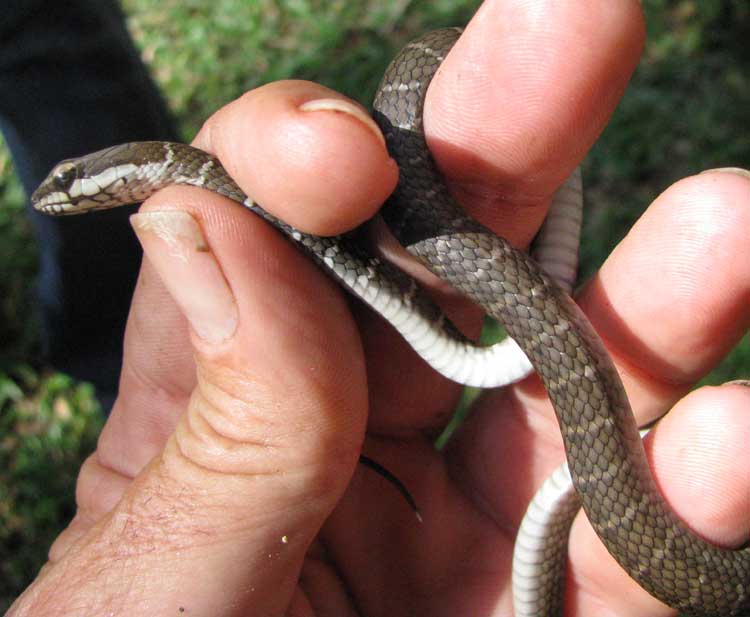
<path fill-rule="evenodd" d="M 75 513 L 78 468 L 101 426 L 91 386 L 23 365 L 0 371 L 0 612 Z"/>

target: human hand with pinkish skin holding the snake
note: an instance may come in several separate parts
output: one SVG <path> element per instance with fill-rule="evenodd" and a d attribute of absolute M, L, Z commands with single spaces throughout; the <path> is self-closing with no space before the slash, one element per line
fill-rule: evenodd
<path fill-rule="evenodd" d="M 642 40 L 634 2 L 541 13 L 486 3 L 426 110 L 451 188 L 517 245 L 602 129 Z M 299 111 L 331 97 L 302 82 L 261 88 L 216 114 L 197 145 L 289 223 L 349 229 L 396 170 L 356 118 Z M 750 209 L 738 207 L 749 187 L 721 172 L 677 183 L 579 295 L 642 422 L 750 325 Z M 11 614 L 509 614 L 515 530 L 562 460 L 539 383 L 488 392 L 438 453 L 459 388 L 278 234 L 195 189 L 165 190 L 142 212 L 147 260 L 121 395 L 81 472 L 76 519 Z M 476 311 L 438 293 L 476 332 Z M 727 545 L 750 533 L 750 478 L 734 468 L 749 394 L 700 390 L 647 442 L 668 501 Z M 365 453 L 405 481 L 423 525 L 382 479 L 355 471 L 365 428 Z M 696 500 L 701 489 L 712 499 Z M 583 517 L 573 534 L 570 614 L 670 614 Z"/>

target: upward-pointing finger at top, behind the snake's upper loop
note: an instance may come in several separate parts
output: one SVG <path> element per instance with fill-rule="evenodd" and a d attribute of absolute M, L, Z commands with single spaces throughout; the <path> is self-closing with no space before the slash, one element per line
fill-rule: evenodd
<path fill-rule="evenodd" d="M 640 3 L 485 2 L 435 77 L 430 150 L 478 220 L 526 246 L 638 62 Z"/>

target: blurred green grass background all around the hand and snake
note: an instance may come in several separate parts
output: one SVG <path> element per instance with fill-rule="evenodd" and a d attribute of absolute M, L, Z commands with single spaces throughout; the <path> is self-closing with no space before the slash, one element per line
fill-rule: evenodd
<path fill-rule="evenodd" d="M 465 23 L 478 4 L 123 0 L 186 140 L 223 103 L 285 77 L 369 104 L 406 41 Z M 582 277 L 672 182 L 710 167 L 750 167 L 750 6 L 652 0 L 644 10 L 641 64 L 584 166 Z M 74 513 L 75 476 L 102 422 L 90 386 L 39 362 L 25 198 L 0 140 L 0 610 L 35 576 Z M 748 336 L 705 383 L 740 376 L 750 376 Z"/>

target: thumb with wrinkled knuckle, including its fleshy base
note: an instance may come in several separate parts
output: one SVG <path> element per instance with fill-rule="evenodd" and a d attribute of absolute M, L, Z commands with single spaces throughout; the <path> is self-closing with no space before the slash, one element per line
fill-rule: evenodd
<path fill-rule="evenodd" d="M 145 271 L 158 275 L 142 275 L 139 287 L 163 284 L 189 324 L 189 335 L 176 329 L 174 337 L 189 336 L 195 386 L 161 452 L 111 510 L 67 550 L 58 546 L 60 559 L 19 601 L 29 612 L 17 614 L 67 614 L 66 603 L 90 614 L 284 614 L 363 439 L 367 393 L 354 322 L 313 264 L 222 197 L 166 189 L 132 224 Z M 131 315 L 128 347 L 138 345 L 149 309 L 156 315 L 160 306 Z M 127 383 L 121 407 L 136 397 Z M 139 392 L 137 406 L 164 405 L 150 396 Z M 100 490 L 92 484 L 83 490 Z"/>

